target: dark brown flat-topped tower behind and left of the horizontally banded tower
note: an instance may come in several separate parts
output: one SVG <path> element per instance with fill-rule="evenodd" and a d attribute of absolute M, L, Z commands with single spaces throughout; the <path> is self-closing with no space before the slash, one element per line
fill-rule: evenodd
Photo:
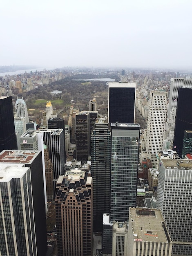
<path fill-rule="evenodd" d="M 91 131 L 98 116 L 97 111 L 81 111 L 76 114 L 76 158 L 87 162 L 91 153 Z"/>

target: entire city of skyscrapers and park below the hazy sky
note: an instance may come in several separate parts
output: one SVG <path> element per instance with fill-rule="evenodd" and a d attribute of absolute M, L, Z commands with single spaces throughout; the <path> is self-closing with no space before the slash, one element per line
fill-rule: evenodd
<path fill-rule="evenodd" d="M 192 74 L 44 68 L 0 94 L 1 255 L 192 255 Z"/>

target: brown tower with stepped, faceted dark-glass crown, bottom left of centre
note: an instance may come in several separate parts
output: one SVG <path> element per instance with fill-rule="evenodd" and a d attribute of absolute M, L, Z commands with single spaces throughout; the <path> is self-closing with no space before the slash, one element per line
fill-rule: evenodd
<path fill-rule="evenodd" d="M 58 256 L 91 256 L 93 236 L 92 177 L 74 169 L 60 175 L 56 186 Z"/>

